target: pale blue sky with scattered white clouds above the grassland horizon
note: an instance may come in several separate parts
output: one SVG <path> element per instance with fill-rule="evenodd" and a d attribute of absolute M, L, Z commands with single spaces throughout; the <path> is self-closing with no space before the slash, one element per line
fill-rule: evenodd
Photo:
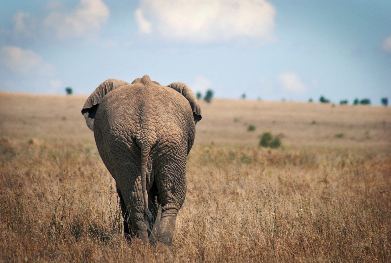
<path fill-rule="evenodd" d="M 391 98 L 390 1 L 0 1 L 0 90 L 149 75 L 219 98 Z"/>

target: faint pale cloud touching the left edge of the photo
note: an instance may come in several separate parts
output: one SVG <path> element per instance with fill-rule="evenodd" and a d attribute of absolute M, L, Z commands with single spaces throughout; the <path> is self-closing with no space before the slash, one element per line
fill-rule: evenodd
<path fill-rule="evenodd" d="M 15 73 L 20 74 L 53 74 L 53 66 L 47 63 L 41 55 L 29 49 L 15 46 L 5 46 L 0 49 L 0 62 Z"/>

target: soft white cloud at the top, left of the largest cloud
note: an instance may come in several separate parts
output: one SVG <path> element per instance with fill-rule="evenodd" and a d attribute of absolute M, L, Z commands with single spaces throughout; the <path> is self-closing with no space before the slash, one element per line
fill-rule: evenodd
<path fill-rule="evenodd" d="M 70 12 L 51 12 L 44 25 L 54 29 L 60 39 L 79 37 L 91 30 L 99 30 L 109 14 L 109 8 L 101 0 L 81 0 Z"/>

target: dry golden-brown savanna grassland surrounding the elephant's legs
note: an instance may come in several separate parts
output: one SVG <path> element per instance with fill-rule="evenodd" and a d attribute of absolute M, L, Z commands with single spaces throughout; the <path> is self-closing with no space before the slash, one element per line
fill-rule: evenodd
<path fill-rule="evenodd" d="M 201 102 L 169 252 L 124 240 L 85 100 L 0 93 L 0 261 L 391 261 L 389 107 Z"/>

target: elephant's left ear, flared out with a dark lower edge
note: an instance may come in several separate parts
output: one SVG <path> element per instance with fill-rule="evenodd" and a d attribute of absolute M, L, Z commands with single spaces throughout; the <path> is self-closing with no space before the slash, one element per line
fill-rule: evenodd
<path fill-rule="evenodd" d="M 86 100 L 86 103 L 84 103 L 83 109 L 81 110 L 81 113 L 83 114 L 84 118 L 86 119 L 86 123 L 88 128 L 90 128 L 91 131 L 94 130 L 94 118 L 95 113 L 97 112 L 99 102 L 102 100 L 104 95 L 108 94 L 110 91 L 113 91 L 114 89 L 117 89 L 118 87 L 121 87 L 123 85 L 128 85 L 129 83 L 122 81 L 122 80 L 115 80 L 113 78 L 110 78 L 108 80 L 105 80 L 102 84 L 100 84 L 95 91 L 88 97 Z"/>

